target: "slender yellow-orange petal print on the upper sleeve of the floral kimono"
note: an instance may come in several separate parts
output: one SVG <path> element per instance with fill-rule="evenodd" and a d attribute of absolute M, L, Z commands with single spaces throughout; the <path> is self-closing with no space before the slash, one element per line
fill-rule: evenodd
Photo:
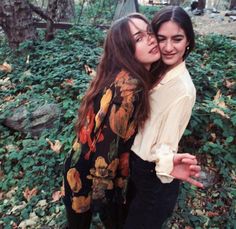
<path fill-rule="evenodd" d="M 107 110 L 109 108 L 111 99 L 112 99 L 112 90 L 107 89 L 102 96 L 102 99 L 100 101 L 100 109 L 95 116 L 95 129 L 94 129 L 94 131 L 96 131 L 101 126 L 101 123 L 102 123 L 104 117 L 106 116 Z"/>

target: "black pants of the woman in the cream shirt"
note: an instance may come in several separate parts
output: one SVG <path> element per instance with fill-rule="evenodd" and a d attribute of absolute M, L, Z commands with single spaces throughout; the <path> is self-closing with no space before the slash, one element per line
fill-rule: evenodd
<path fill-rule="evenodd" d="M 160 229 L 173 212 L 179 181 L 161 183 L 155 173 L 155 164 L 132 153 L 130 182 L 134 197 L 124 229 Z"/>

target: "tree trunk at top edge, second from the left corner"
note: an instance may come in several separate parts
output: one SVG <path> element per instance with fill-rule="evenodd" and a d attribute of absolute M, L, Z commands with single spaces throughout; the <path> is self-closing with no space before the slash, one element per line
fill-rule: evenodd
<path fill-rule="evenodd" d="M 53 21 L 69 22 L 75 19 L 74 0 L 49 0 L 47 14 Z"/>

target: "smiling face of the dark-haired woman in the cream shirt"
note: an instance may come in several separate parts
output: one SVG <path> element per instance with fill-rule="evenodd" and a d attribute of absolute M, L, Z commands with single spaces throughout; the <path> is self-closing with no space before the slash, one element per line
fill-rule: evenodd
<path fill-rule="evenodd" d="M 171 68 L 183 61 L 183 56 L 189 42 L 184 30 L 173 21 L 165 22 L 157 31 L 162 60 Z"/>

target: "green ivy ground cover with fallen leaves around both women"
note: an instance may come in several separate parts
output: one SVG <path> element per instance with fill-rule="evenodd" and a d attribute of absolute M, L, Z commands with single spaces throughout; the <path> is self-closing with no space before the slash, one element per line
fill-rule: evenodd
<path fill-rule="evenodd" d="M 150 10 L 149 10 L 150 11 Z M 146 10 L 145 12 L 149 12 Z M 152 11 L 150 11 L 152 12 Z M 105 32 L 89 25 L 58 31 L 55 40 L 26 42 L 17 52 L 0 40 L 0 121 L 24 104 L 29 112 L 47 103 L 61 110 L 56 127 L 39 138 L 0 124 L 0 228 L 63 228 L 62 168 L 74 138 L 77 109 L 95 68 Z M 182 184 L 172 228 L 233 228 L 236 225 L 236 42 L 197 37 L 187 65 L 197 88 L 193 115 L 180 151 L 197 155 L 213 185 L 204 190 Z M 30 123 L 29 123 L 30 125 Z M 48 141 L 62 145 L 60 152 Z M 57 146 L 55 146 L 57 147 Z"/>

